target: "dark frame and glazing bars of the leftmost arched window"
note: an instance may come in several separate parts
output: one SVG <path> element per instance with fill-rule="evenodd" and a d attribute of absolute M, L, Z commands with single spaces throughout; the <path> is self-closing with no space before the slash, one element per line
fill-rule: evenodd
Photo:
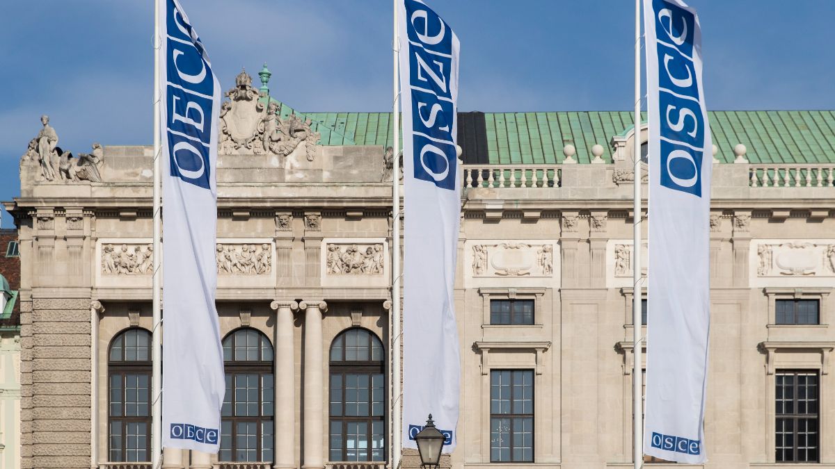
<path fill-rule="evenodd" d="M 127 361 L 125 360 L 125 349 L 127 348 L 125 345 L 124 337 L 132 331 L 132 330 L 140 330 L 143 331 L 148 336 L 148 360 L 144 361 Z M 147 433 L 145 435 L 145 454 L 151 456 L 151 438 L 153 437 L 153 423 L 152 423 L 152 416 L 151 416 L 151 401 L 153 396 L 151 396 L 152 391 L 150 390 L 151 380 L 152 378 L 152 359 L 150 350 L 151 346 L 151 332 L 147 329 L 142 327 L 129 327 L 128 329 L 124 329 L 119 331 L 118 334 L 114 335 L 113 339 L 110 340 L 110 343 L 107 347 L 107 460 L 109 462 L 147 462 L 147 461 L 127 461 L 128 455 L 128 448 L 127 448 L 127 427 L 130 423 L 144 423 Z M 111 359 L 112 350 L 116 343 L 116 340 L 122 339 L 121 343 L 121 359 L 118 361 L 114 361 Z M 127 376 L 129 375 L 138 375 L 138 376 L 147 376 L 148 377 L 148 401 L 145 402 L 148 408 L 148 415 L 147 416 L 113 416 L 111 414 L 111 394 L 112 394 L 112 383 L 113 383 L 113 376 L 119 376 L 119 386 L 121 386 L 121 396 L 120 396 L 120 405 L 122 406 L 122 413 L 124 414 L 124 406 L 126 405 L 126 399 L 124 396 L 124 392 L 127 388 Z M 120 426 L 119 431 L 121 435 L 121 447 L 119 448 L 121 457 L 121 461 L 114 461 L 112 454 L 114 451 L 113 446 L 111 446 L 112 439 L 112 429 L 114 424 Z"/>

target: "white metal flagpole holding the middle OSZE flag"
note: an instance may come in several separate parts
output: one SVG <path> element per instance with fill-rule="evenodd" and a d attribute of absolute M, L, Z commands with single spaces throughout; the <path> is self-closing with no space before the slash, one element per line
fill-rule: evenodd
<path fill-rule="evenodd" d="M 399 0 L 402 1 L 402 0 Z M 391 315 L 391 354 L 392 354 L 392 469 L 400 467 L 402 455 L 402 423 L 401 423 L 401 383 L 400 383 L 400 76 L 398 61 L 400 59 L 400 37 L 397 31 L 397 2 L 394 0 L 394 40 L 392 41 L 393 67 L 393 109 L 392 129 L 392 315 Z"/>

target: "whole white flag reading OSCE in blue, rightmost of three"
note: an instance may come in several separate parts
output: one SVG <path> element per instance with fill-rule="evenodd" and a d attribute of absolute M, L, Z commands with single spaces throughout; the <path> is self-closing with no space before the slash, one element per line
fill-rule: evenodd
<path fill-rule="evenodd" d="M 680 0 L 644 0 L 649 289 L 644 451 L 701 463 L 710 329 L 711 129 L 701 28 Z"/>

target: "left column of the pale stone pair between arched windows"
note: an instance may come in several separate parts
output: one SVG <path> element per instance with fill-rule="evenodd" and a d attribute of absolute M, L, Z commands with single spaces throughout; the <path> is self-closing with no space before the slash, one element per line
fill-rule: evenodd
<path fill-rule="evenodd" d="M 270 307 L 276 310 L 276 353 L 273 373 L 276 379 L 276 417 L 273 431 L 273 467 L 292 469 L 296 467 L 296 357 L 293 311 L 299 309 L 299 304 L 296 301 L 276 300 Z"/>

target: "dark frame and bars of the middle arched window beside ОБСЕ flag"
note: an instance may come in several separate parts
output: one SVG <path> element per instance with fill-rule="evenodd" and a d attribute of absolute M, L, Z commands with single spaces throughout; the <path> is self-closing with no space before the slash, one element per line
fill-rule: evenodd
<path fill-rule="evenodd" d="M 259 337 L 260 340 L 259 340 L 259 343 L 258 343 L 258 360 L 256 360 L 256 361 L 235 360 L 235 340 L 236 340 L 235 334 L 237 334 L 241 331 L 254 331 L 254 332 L 256 332 L 257 336 Z M 223 412 L 221 411 L 221 415 L 220 415 L 221 430 L 220 431 L 221 431 L 221 440 L 222 440 L 222 437 L 223 437 L 223 435 L 222 435 L 222 433 L 223 433 L 223 423 L 226 422 L 226 421 L 230 422 L 230 447 L 229 447 L 229 451 L 230 451 L 230 458 L 229 459 L 230 459 L 230 461 L 224 461 L 223 459 L 219 459 L 219 461 L 222 461 L 222 462 L 271 462 L 272 460 L 275 460 L 275 458 L 276 458 L 276 448 L 275 448 L 275 437 L 276 437 L 275 357 L 276 357 L 276 348 L 272 344 L 271 340 L 269 339 L 269 337 L 267 337 L 266 334 L 261 332 L 261 330 L 258 330 L 254 327 L 249 327 L 249 326 L 239 327 L 235 330 L 230 330 L 230 332 L 227 333 L 224 336 L 223 340 L 221 341 L 221 344 L 223 342 L 225 342 L 227 339 L 231 340 L 230 347 L 231 347 L 231 350 L 232 350 L 232 356 L 231 356 L 232 360 L 227 361 L 227 360 L 225 360 L 225 357 L 224 357 L 223 366 L 224 366 L 224 380 L 226 380 L 227 376 L 229 376 L 230 380 L 231 380 L 231 383 L 230 383 L 231 384 L 231 392 L 228 392 L 230 390 L 227 389 L 227 394 L 230 395 L 230 396 L 228 396 L 229 405 L 230 405 L 230 415 L 229 416 L 224 416 Z M 261 340 L 266 340 L 266 344 L 270 345 L 271 355 L 272 355 L 271 360 L 264 360 L 264 348 L 263 348 Z M 235 377 L 236 376 L 246 376 L 246 375 L 256 375 L 256 376 L 258 376 L 258 388 L 257 388 L 258 389 L 258 403 L 257 403 L 258 415 L 256 415 L 256 416 L 237 416 L 237 415 L 235 415 L 235 404 L 236 404 L 236 400 L 235 400 L 235 397 L 236 397 Z M 264 412 L 263 411 L 263 409 L 264 409 L 263 406 L 264 406 L 264 389 L 265 389 L 264 379 L 265 379 L 265 376 L 270 376 L 271 380 L 272 380 L 271 388 L 272 388 L 273 391 L 272 391 L 272 415 L 271 416 L 262 415 L 263 412 Z M 225 404 L 225 402 L 224 402 L 224 404 Z M 263 453 L 264 453 L 263 425 L 264 425 L 264 422 L 266 422 L 266 421 L 270 421 L 272 423 L 272 436 L 271 436 L 271 438 L 273 439 L 273 442 L 271 444 L 272 444 L 273 448 L 272 448 L 272 458 L 271 458 L 270 461 L 262 461 L 265 458 L 261 457 L 261 456 L 263 456 Z M 238 428 L 238 425 L 237 424 L 238 423 L 256 423 L 256 456 L 257 456 L 256 461 L 239 461 L 238 458 L 237 458 L 237 450 L 238 450 L 238 448 L 237 448 L 237 428 Z M 219 449 L 219 451 L 218 451 L 218 457 L 219 458 L 220 458 L 221 451 L 225 451 L 225 448 L 220 448 Z"/>

